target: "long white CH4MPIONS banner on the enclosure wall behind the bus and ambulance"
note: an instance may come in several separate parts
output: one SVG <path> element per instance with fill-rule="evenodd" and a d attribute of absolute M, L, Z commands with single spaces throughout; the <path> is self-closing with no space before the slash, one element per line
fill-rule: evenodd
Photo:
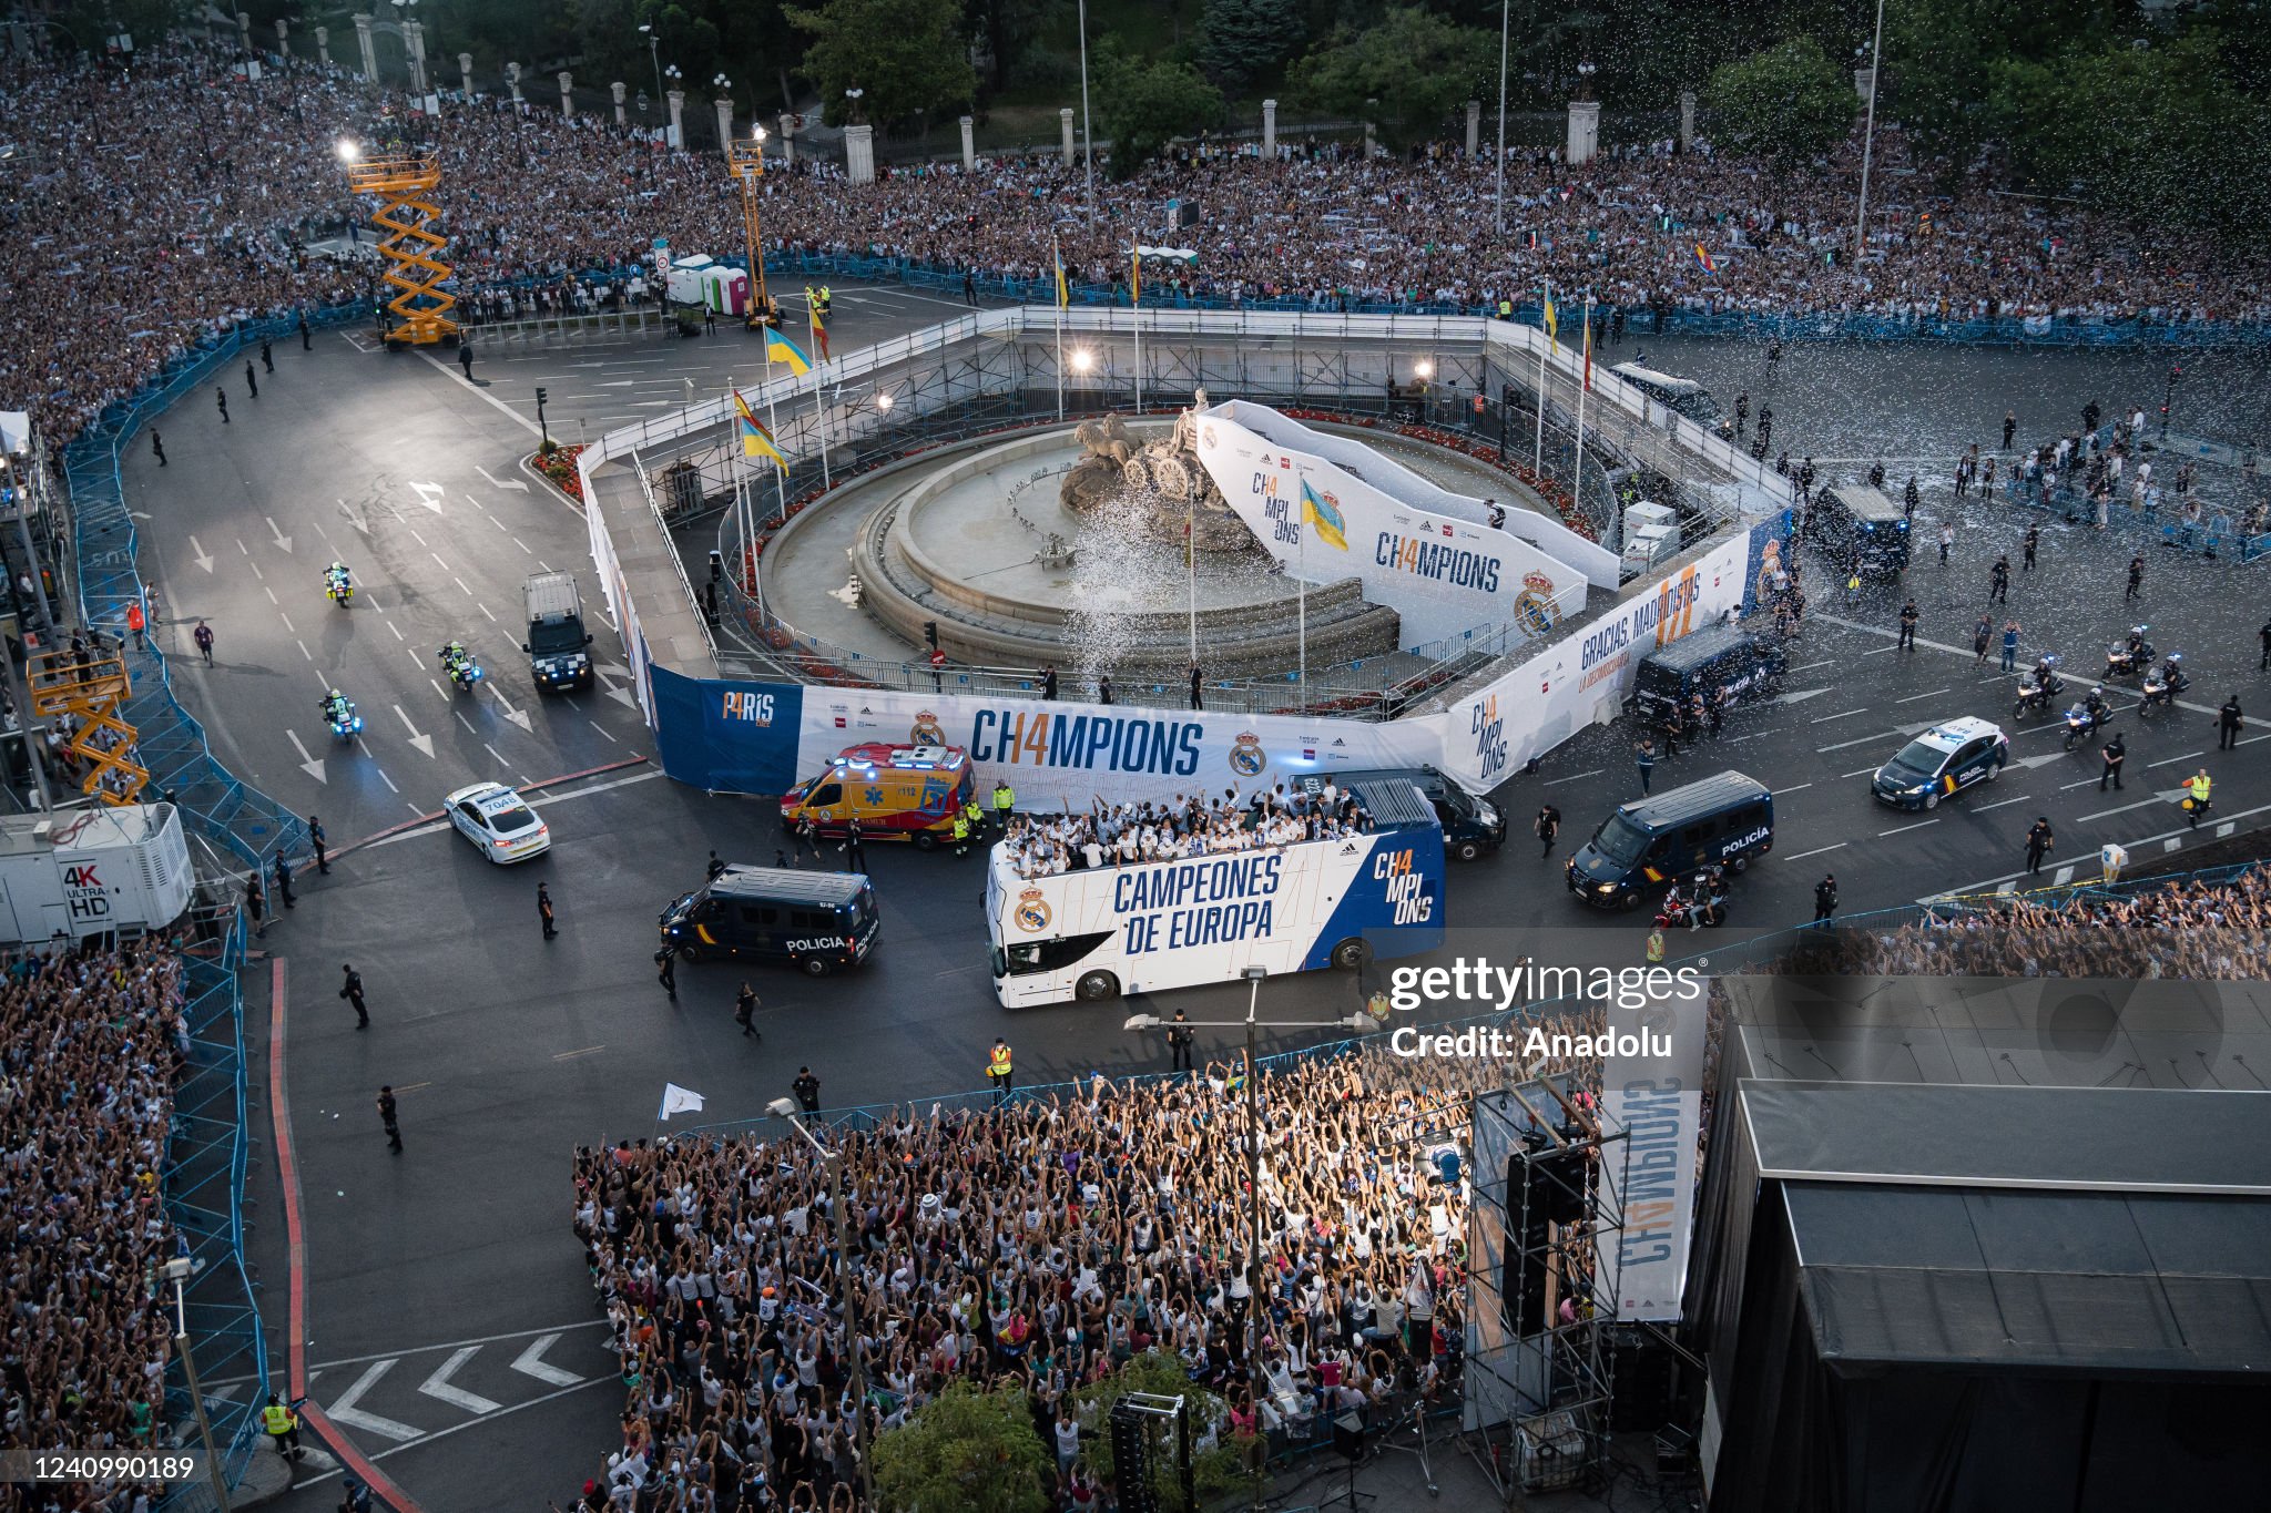
<path fill-rule="evenodd" d="M 863 742 L 965 746 L 979 803 L 1002 778 L 1031 812 L 1086 810 L 1283 783 L 1304 774 L 1435 764 L 1442 737 L 1424 721 L 1363 724 L 1285 715 L 1138 710 L 1099 703 L 804 690 L 797 776 Z"/>

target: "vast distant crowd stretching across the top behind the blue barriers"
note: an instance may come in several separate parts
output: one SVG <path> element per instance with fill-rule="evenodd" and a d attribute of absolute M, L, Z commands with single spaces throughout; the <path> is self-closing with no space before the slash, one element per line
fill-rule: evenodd
<path fill-rule="evenodd" d="M 468 315 L 588 299 L 570 274 L 629 270 L 656 236 L 681 252 L 743 247 L 738 191 L 713 150 L 668 152 L 597 113 L 452 100 L 438 122 L 391 125 L 388 98 L 338 68 L 302 61 L 248 82 L 191 43 L 127 61 L 0 64 L 18 175 L 5 213 L 20 250 L 0 288 L 11 333 L 0 390 L 23 395 L 55 438 L 248 315 L 372 295 L 368 259 L 304 252 L 368 215 L 334 157 L 343 136 L 431 138 Z M 1855 145 L 1792 175 L 1708 145 L 1621 150 L 1576 170 L 1553 152 L 1510 154 L 1503 231 L 1488 211 L 1497 163 L 1442 145 L 1365 159 L 1301 138 L 1272 161 L 1251 143 L 1185 150 L 1124 184 L 1099 179 L 1095 215 L 1086 175 L 1056 154 L 886 170 L 852 191 L 806 147 L 793 172 L 765 177 L 763 227 L 768 247 L 1036 281 L 1063 256 L 1076 281 L 1124 286 L 1129 227 L 1149 234 L 1179 200 L 1183 229 L 1160 234 L 1197 259 L 1147 268 L 1147 297 L 1494 308 L 1551 279 L 1572 302 L 1592 290 L 1619 308 L 2271 315 L 2260 247 L 2146 236 L 1983 188 L 1926 197 L 1901 132 L 1876 138 L 1878 181 L 1894 188 L 1874 202 L 1862 259 L 1849 225 Z"/>

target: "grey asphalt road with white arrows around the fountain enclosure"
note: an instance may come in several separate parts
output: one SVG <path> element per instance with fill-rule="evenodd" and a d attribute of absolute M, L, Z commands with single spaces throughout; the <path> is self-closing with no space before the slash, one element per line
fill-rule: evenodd
<path fill-rule="evenodd" d="M 942 304 L 840 290 L 836 338 L 922 324 Z M 527 572 L 577 567 L 590 583 L 581 519 L 518 470 L 534 447 L 529 390 L 547 386 L 554 433 L 572 436 L 577 420 L 597 433 L 684 402 L 686 377 L 697 388 L 722 381 L 749 352 L 740 333 L 493 343 L 477 349 L 481 383 L 468 386 L 454 365 L 332 336 L 313 354 L 279 349 L 259 402 L 238 374 L 229 426 L 209 395 L 191 397 L 164 422 L 170 467 L 157 470 L 148 451 L 129 467 L 134 506 L 152 517 L 145 572 L 164 588 L 166 633 L 184 653 L 177 685 L 216 751 L 291 808 L 320 812 L 334 846 L 393 830 L 343 855 L 332 876 L 304 878 L 298 907 L 263 946 L 284 960 L 316 1397 L 434 1513 L 540 1506 L 604 1454 L 620 1404 L 568 1232 L 565 1175 L 579 1143 L 652 1136 L 663 1082 L 704 1093 L 702 1121 L 738 1121 L 759 1116 L 806 1064 L 829 1105 L 977 1089 L 983 1048 L 1004 1032 L 1022 1084 L 1165 1066 L 1163 1046 L 1120 1030 L 1124 1007 L 1020 1016 L 997 1007 L 974 860 L 872 848 L 883 901 L 877 960 L 827 982 L 752 971 L 763 998 L 763 1039 L 752 1041 L 731 1021 L 743 973 L 686 966 L 672 1005 L 650 955 L 656 910 L 695 885 L 709 848 L 772 860 L 777 826 L 763 801 L 681 789 L 638 764 L 568 780 L 536 796 L 554 848 L 518 869 L 486 864 L 443 826 L 409 823 L 472 778 L 540 780 L 650 751 L 620 687 L 540 699 L 513 646 Z M 2001 383 L 2001 354 L 1978 356 L 1985 399 Z M 2044 377 L 2053 379 L 2080 397 L 2096 381 L 2080 361 Z M 1837 440 L 1824 431 L 1817 451 L 1837 456 Z M 1953 456 L 1953 440 L 1944 449 Z M 2105 839 L 2160 855 L 2167 839 L 2189 839 L 2162 794 L 2196 764 L 2216 776 L 2219 819 L 2257 823 L 2253 812 L 2271 810 L 2255 744 L 2264 728 L 2239 753 L 2216 753 L 2205 715 L 2237 687 L 2271 717 L 2271 681 L 2253 671 L 2271 567 L 2176 563 L 2155 549 L 2144 606 L 2132 610 L 2121 603 L 2132 544 L 2055 522 L 2042 569 L 2019 574 L 2012 590 L 2028 646 L 2062 649 L 2085 671 L 2089 653 L 2142 615 L 2162 646 L 2192 653 L 2198 708 L 2182 721 L 2123 717 L 2130 787 L 2119 796 L 2101 796 L 2096 762 L 2060 753 L 2042 724 L 2014 735 L 2019 762 L 1998 785 L 1933 814 L 1896 814 L 1867 796 L 1867 769 L 1914 728 L 1960 712 L 2008 724 L 2008 678 L 1994 660 L 1973 662 L 1969 626 L 1987 563 L 2014 547 L 2026 519 L 2005 506 L 1976 510 L 1951 567 L 1919 556 L 1905 585 L 1924 612 L 1914 653 L 1892 649 L 1896 597 L 1851 615 L 1840 606 L 1835 615 L 1851 622 L 1840 624 L 1819 592 L 1826 574 L 1812 569 L 1817 612 L 1792 649 L 1785 699 L 1740 712 L 1719 742 L 1658 767 L 1658 787 L 1740 767 L 1778 792 L 1776 855 L 1737 885 L 1726 939 L 1805 919 L 1826 869 L 1837 871 L 1849 914 L 1994 887 L 2019 871 L 2019 837 L 2035 814 L 2058 828 L 2053 867 L 2094 857 Z M 320 594 L 332 556 L 357 574 L 347 610 Z M 595 594 L 588 606 L 597 612 Z M 218 635 L 211 671 L 188 651 L 198 615 Z M 593 628 L 595 653 L 620 665 L 606 626 Z M 436 687 L 434 649 L 452 635 L 488 667 L 479 696 Z M 320 739 L 316 699 L 327 683 L 361 705 L 357 749 Z M 1456 948 L 1640 960 L 1644 923 L 1574 903 L 1558 857 L 1540 860 L 1526 832 L 1535 808 L 1556 803 L 1567 826 L 1558 855 L 1567 855 L 1637 794 L 1631 742 L 1621 724 L 1587 730 L 1501 789 L 1515 839 L 1453 873 Z M 940 876 L 952 871 L 961 876 Z M 556 941 L 538 935 L 540 880 L 559 905 Z M 345 962 L 368 984 L 368 1032 L 336 998 Z M 257 987 L 248 1039 L 261 1046 L 266 980 Z M 1340 994 L 1354 1003 L 1358 984 L 1269 984 L 1263 1012 L 1340 1012 L 1331 1003 Z M 1245 996 L 1192 989 L 1176 1005 L 1192 1018 L 1233 1018 Z M 1201 1032 L 1201 1048 L 1233 1041 Z M 382 1082 L 402 1098 L 402 1155 L 386 1150 L 372 1109 Z M 266 1098 L 254 1121 L 266 1130 Z M 254 1195 L 252 1259 L 282 1368 L 288 1259 L 266 1141 Z M 320 1484 L 284 1506 L 336 1499 L 336 1486 Z"/>

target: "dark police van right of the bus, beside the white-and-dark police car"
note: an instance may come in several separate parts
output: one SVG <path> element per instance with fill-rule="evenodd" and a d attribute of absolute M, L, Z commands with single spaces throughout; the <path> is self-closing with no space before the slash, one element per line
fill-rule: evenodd
<path fill-rule="evenodd" d="M 1774 794 L 1758 778 L 1724 771 L 1637 803 L 1617 805 L 1562 876 L 1601 910 L 1628 910 L 1656 885 L 1712 862 L 1742 871 L 1774 851 Z"/>

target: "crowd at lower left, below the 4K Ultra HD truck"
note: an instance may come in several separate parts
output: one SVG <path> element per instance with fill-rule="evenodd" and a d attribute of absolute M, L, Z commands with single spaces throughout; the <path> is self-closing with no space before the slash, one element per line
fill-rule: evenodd
<path fill-rule="evenodd" d="M 0 1449 L 164 1436 L 173 1320 L 145 1273 L 173 1254 L 159 1168 L 188 1048 L 182 962 L 159 941 L 0 955 Z"/>

